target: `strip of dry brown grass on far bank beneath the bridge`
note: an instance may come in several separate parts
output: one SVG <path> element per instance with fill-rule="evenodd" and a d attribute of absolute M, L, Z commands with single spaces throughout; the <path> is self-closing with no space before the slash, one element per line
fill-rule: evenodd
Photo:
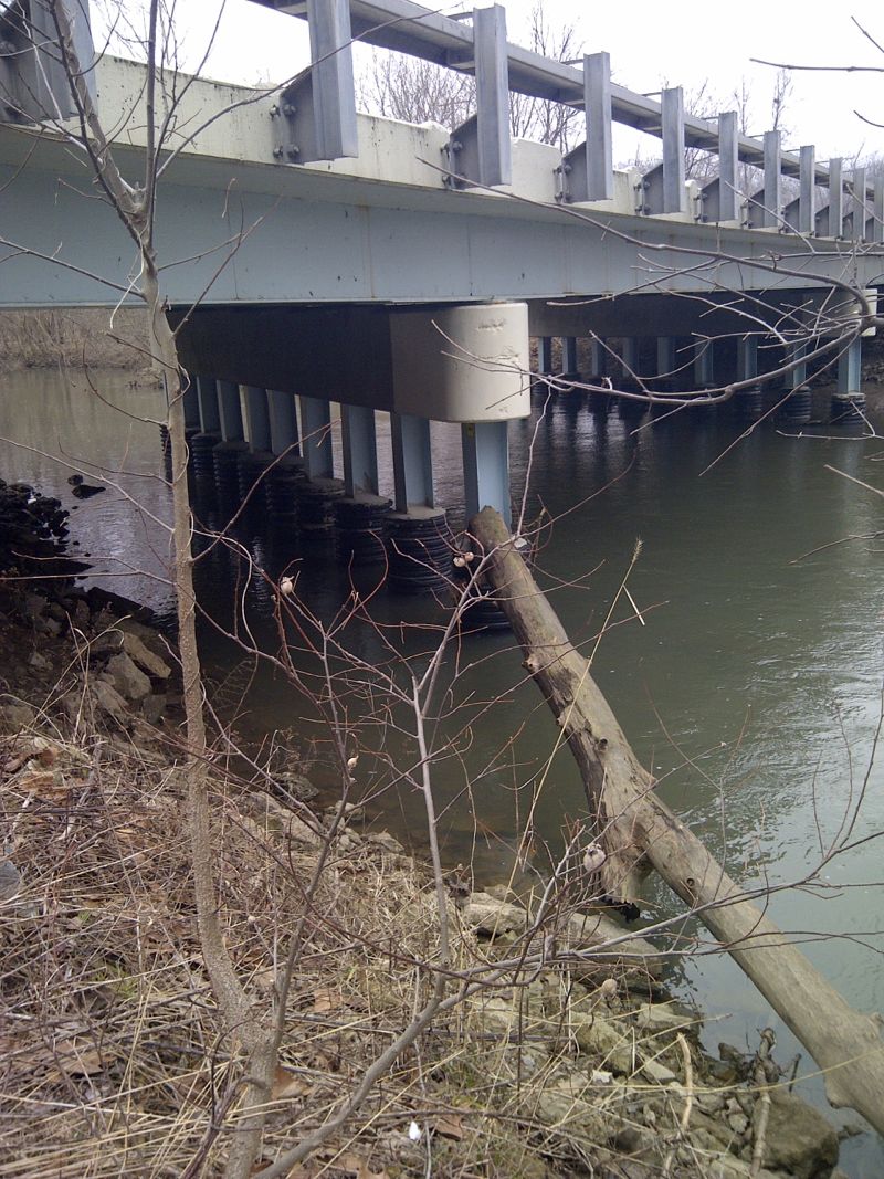
<path fill-rule="evenodd" d="M 138 308 L 0 314 L 0 369 L 126 368 L 145 371 L 146 318 Z"/>

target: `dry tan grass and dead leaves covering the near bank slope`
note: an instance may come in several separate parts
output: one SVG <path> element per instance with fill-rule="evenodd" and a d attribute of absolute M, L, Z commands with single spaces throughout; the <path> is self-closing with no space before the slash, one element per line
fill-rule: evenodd
<path fill-rule="evenodd" d="M 0 1177 L 220 1174 L 242 1059 L 202 966 L 174 765 L 120 736 L 31 732 L 0 739 L 0 778 L 7 854 L 22 875 L 0 901 Z M 268 1005 L 318 838 L 236 784 L 216 782 L 213 801 L 227 946 Z M 451 918 L 459 926 L 454 902 Z M 436 953 L 422 869 L 388 836 L 344 830 L 308 909 L 265 1161 L 321 1125 L 407 1026 Z M 488 955 L 460 930 L 456 968 Z M 684 1088 L 664 1092 L 640 1074 L 667 1046 L 631 1030 L 624 1010 L 634 1075 L 600 1081 L 611 1061 L 603 1048 L 581 1050 L 575 1030 L 599 996 L 556 971 L 513 981 L 440 1019 L 357 1124 L 292 1179 L 422 1175 L 428 1150 L 436 1177 L 589 1173 L 615 1158 L 614 1131 L 647 1141 L 649 1102 L 661 1157 L 674 1150 Z M 674 1173 L 708 1174 L 707 1161 Z"/>

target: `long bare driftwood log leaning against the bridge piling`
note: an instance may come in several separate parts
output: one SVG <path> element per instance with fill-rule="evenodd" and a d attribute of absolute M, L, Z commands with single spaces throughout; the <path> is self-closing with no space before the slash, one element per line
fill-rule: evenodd
<path fill-rule="evenodd" d="M 525 666 L 553 710 L 594 801 L 598 838 L 619 874 L 634 882 L 644 857 L 758 987 L 825 1075 L 833 1106 L 851 1106 L 884 1133 L 880 1016 L 864 1015 L 816 970 L 700 841 L 654 793 L 605 697 L 537 588 L 508 529 L 483 508 L 470 531 L 483 575 L 525 652 Z M 612 887 L 611 876 L 605 882 Z"/>

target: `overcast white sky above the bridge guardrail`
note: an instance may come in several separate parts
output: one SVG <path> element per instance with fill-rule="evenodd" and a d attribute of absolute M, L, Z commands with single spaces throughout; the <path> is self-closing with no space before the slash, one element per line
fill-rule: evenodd
<path fill-rule="evenodd" d="M 525 41 L 534 0 L 507 0 L 509 40 Z M 480 0 L 480 6 L 484 6 Z M 436 7 L 435 5 L 433 7 Z M 440 7 L 444 13 L 470 9 L 471 4 Z M 186 48 L 200 51 L 206 29 L 217 14 L 217 0 L 179 0 L 179 26 L 186 20 Z M 618 4 L 546 0 L 550 24 L 576 26 L 586 52 L 611 53 L 614 80 L 642 93 L 659 91 L 662 81 L 697 90 L 706 79 L 720 104 L 733 107 L 731 94 L 745 78 L 751 87 L 757 125 L 751 133 L 768 130 L 770 101 L 776 71 L 756 66 L 766 58 L 796 65 L 878 66 L 884 53 L 875 48 L 853 24 L 856 18 L 884 44 L 884 5 L 777 4 L 741 0 L 737 5 L 675 5 L 620 0 Z M 278 81 L 306 62 L 304 21 L 270 12 L 250 0 L 226 0 L 209 71 L 217 78 L 253 83 Z M 358 68 L 358 62 L 357 62 Z M 819 73 L 796 71 L 786 110 L 785 146 L 812 143 L 817 158 L 884 153 L 884 129 L 860 121 L 855 111 L 884 123 L 884 72 Z M 615 156 L 634 154 L 634 132 L 619 137 Z"/>

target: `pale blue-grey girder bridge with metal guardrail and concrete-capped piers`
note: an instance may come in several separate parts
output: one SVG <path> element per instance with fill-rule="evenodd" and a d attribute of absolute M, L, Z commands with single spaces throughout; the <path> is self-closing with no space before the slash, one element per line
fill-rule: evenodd
<path fill-rule="evenodd" d="M 134 251 L 83 151 L 52 2 L 0 15 L 0 307 L 114 307 L 136 299 Z M 138 180 L 145 67 L 95 58 L 86 0 L 57 2 Z M 314 493 L 343 493 L 359 516 L 376 506 L 384 410 L 395 514 L 420 531 L 437 514 L 433 420 L 462 423 L 468 507 L 508 516 L 507 421 L 529 410 L 532 340 L 540 373 L 560 340 L 559 371 L 658 396 L 752 388 L 760 343 L 774 367 L 792 361 L 796 404 L 809 342 L 840 340 L 839 394 L 862 395 L 857 292 L 880 269 L 882 178 L 823 165 L 812 146 L 786 152 L 778 131 L 747 138 L 733 112 L 687 114 L 679 87 L 633 93 L 605 52 L 573 65 L 509 44 L 501 5 L 455 20 L 411 0 L 243 2 L 308 20 L 312 66 L 265 91 L 160 77 L 157 241 L 194 377 L 194 462 L 226 470 L 233 455 L 251 479 L 299 452 Z M 442 127 L 359 113 L 355 37 L 470 74 L 475 114 Z M 510 92 L 579 111 L 582 141 L 562 154 L 514 140 Z M 615 123 L 655 136 L 659 163 L 615 169 Z M 708 153 L 711 179 L 686 178 L 686 149 Z M 272 470 L 299 483 L 290 463 Z"/>

